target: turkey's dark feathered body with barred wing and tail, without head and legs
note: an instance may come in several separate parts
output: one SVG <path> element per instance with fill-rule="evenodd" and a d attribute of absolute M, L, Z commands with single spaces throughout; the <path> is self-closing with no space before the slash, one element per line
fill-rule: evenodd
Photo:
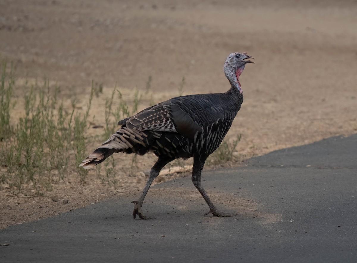
<path fill-rule="evenodd" d="M 158 157 L 174 159 L 188 159 L 194 155 L 207 157 L 221 144 L 242 102 L 243 94 L 231 91 L 172 98 L 135 115 L 149 115 L 151 118 L 145 116 L 149 119 L 146 126 L 150 125 L 151 130 L 132 125 L 130 118 L 124 119 L 119 122 L 122 124 L 120 130 L 95 152 L 103 157 L 114 152 L 144 155 L 150 151 Z M 170 123 L 176 131 L 167 127 Z M 87 165 L 94 166 L 106 157 L 90 160 Z"/>

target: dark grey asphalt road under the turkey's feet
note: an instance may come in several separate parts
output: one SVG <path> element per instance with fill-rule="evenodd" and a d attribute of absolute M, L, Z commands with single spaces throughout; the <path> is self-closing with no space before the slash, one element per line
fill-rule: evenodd
<path fill-rule="evenodd" d="M 357 135 L 203 171 L 232 218 L 204 217 L 190 177 L 0 231 L 1 262 L 357 262 Z M 164 235 L 164 236 L 163 236 Z"/>

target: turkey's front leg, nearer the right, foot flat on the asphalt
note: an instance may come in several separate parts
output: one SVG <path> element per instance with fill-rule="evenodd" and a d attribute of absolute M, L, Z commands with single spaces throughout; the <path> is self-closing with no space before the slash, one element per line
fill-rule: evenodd
<path fill-rule="evenodd" d="M 202 157 L 202 156 L 201 156 Z M 205 199 L 208 207 L 210 210 L 205 214 L 210 214 L 212 213 L 214 216 L 233 216 L 232 214 L 227 214 L 227 213 L 222 213 L 219 211 L 216 206 L 212 203 L 208 195 L 206 194 L 205 189 L 203 189 L 201 185 L 201 172 L 203 169 L 203 166 L 205 165 L 206 159 L 203 161 L 200 160 L 200 156 L 194 156 L 193 157 L 193 168 L 192 168 L 192 182 L 193 185 L 196 186 L 197 190 L 201 193 L 203 196 L 203 199 Z"/>

